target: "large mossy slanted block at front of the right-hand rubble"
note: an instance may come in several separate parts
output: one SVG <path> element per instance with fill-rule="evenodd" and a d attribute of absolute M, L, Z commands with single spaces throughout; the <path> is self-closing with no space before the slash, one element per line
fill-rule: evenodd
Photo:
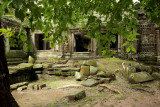
<path fill-rule="evenodd" d="M 148 72 L 137 72 L 137 73 L 132 73 L 129 76 L 128 80 L 130 83 L 142 83 L 151 81 L 153 79 L 154 78 Z"/>

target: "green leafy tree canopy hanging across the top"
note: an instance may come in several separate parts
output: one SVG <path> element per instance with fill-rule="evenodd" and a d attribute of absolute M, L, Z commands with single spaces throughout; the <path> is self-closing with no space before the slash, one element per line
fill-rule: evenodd
<path fill-rule="evenodd" d="M 108 44 L 116 41 L 115 34 L 123 35 L 127 52 L 136 51 L 131 42 L 137 40 L 137 9 L 142 7 L 151 21 L 160 22 L 159 0 L 3 0 L 0 17 L 13 12 L 23 25 L 32 31 L 38 28 L 45 33 L 49 42 L 62 42 L 69 28 L 88 30 L 88 36 L 103 40 L 100 50 L 110 54 Z M 107 33 L 101 34 L 102 26 Z M 134 31 L 134 32 L 133 32 Z"/>

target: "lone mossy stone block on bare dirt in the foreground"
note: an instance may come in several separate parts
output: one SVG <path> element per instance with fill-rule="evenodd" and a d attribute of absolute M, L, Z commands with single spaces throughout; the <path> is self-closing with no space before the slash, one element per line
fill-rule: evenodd
<path fill-rule="evenodd" d="M 86 97 L 85 90 L 78 90 L 66 96 L 68 101 L 77 101 Z"/>

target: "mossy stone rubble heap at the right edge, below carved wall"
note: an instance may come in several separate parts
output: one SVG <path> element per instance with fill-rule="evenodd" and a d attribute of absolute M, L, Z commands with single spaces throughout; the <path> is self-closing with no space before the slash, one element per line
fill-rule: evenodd
<path fill-rule="evenodd" d="M 127 66 L 123 72 L 124 77 L 130 83 L 143 83 L 160 79 L 160 68 L 158 66 L 147 66 L 140 63 L 133 63 Z"/>

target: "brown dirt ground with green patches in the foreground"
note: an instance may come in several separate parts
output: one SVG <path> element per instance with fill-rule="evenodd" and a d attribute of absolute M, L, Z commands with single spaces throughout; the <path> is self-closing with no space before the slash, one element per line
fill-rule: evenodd
<path fill-rule="evenodd" d="M 112 69 L 114 64 L 121 67 L 120 63 L 116 61 L 110 67 L 106 62 L 104 64 Z M 160 107 L 160 81 L 130 84 L 121 72 L 116 73 L 116 80 L 103 86 L 84 87 L 74 77 L 50 77 L 31 84 L 42 82 L 49 88 L 12 92 L 20 107 Z M 84 89 L 87 97 L 75 102 L 64 99 L 64 96 L 78 89 Z"/>

